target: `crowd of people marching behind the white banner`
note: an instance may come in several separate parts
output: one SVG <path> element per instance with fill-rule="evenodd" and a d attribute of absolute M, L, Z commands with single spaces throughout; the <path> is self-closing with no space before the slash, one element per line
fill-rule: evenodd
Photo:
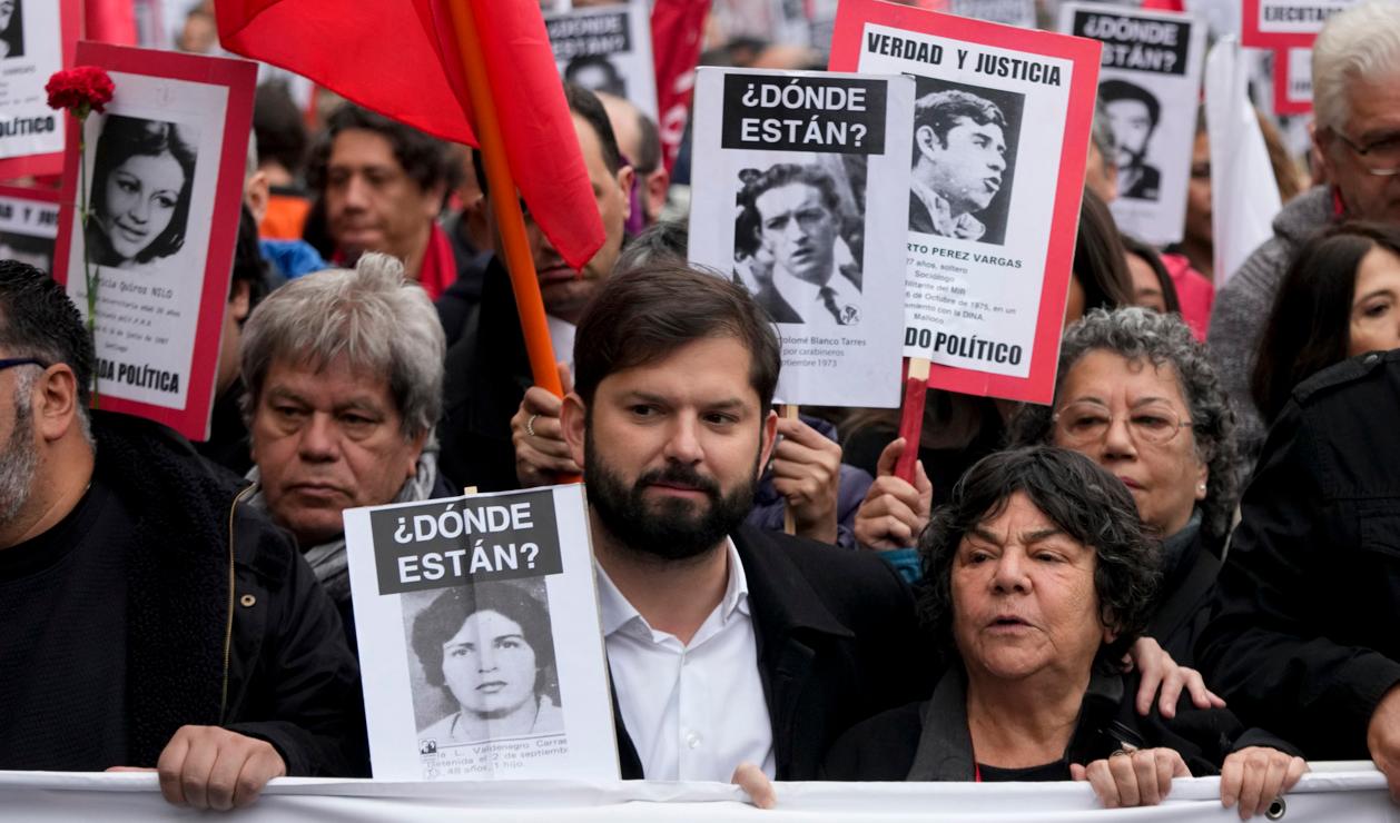
<path fill-rule="evenodd" d="M 1261 182 L 1291 196 L 1228 280 L 1204 119 L 1183 242 L 1119 231 L 1120 189 L 1165 182 L 1114 126 L 1163 115 L 1110 88 L 1053 402 L 930 389 L 910 480 L 897 412 L 774 409 L 777 315 L 843 316 L 825 287 L 766 300 L 811 283 L 781 244 L 844 280 L 825 178 L 752 181 L 771 266 L 697 272 L 657 125 L 566 84 L 605 242 L 575 270 L 526 218 L 559 398 L 480 157 L 349 102 L 308 132 L 260 88 L 207 442 L 90 409 L 78 311 L 0 260 L 0 768 L 154 768 L 214 809 L 370 775 L 342 512 L 582 476 L 624 778 L 760 805 L 774 780 L 1082 780 L 1114 808 L 1219 774 L 1249 817 L 1305 759 L 1368 759 L 1400 801 L 1400 6 L 1334 15 L 1313 77 L 1316 185 L 1287 158 Z M 934 182 L 1000 175 L 995 139 L 952 150 L 1001 113 L 920 106 L 911 220 L 980 237 Z M 183 242 L 183 139 L 157 126 L 95 172 L 111 265 Z M 412 627 L 455 707 L 438 738 L 560 722 L 542 606 L 504 589 Z M 517 638 L 519 683 L 479 694 L 463 635 Z"/>

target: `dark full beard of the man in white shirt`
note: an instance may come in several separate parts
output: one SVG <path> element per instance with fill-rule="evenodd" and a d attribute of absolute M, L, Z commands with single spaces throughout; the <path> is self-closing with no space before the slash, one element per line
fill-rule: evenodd
<path fill-rule="evenodd" d="M 613 472 L 594 448 L 592 431 L 584 434 L 584 483 L 588 502 L 603 528 L 626 549 L 657 560 L 689 560 L 714 549 L 753 508 L 757 493 L 757 462 L 748 481 L 729 494 L 718 483 L 685 463 L 652 469 L 631 488 Z M 690 500 L 671 498 L 650 502 L 648 486 L 673 483 L 703 491 L 708 505 L 699 514 Z"/>

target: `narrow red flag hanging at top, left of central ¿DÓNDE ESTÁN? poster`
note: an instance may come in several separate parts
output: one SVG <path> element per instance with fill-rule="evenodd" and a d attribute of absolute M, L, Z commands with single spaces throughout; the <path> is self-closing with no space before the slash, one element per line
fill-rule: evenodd
<path fill-rule="evenodd" d="M 690 119 L 696 63 L 704 41 L 710 0 L 657 0 L 651 10 L 651 55 L 657 67 L 661 148 L 669 171 Z"/>

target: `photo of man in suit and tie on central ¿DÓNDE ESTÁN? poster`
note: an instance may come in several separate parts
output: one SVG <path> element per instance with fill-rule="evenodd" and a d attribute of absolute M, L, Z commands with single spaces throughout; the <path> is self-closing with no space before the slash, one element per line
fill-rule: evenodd
<path fill-rule="evenodd" d="M 841 260 L 841 209 L 832 175 L 780 162 L 749 171 L 739 199 L 748 206 L 736 231 L 750 231 L 753 260 L 769 276 L 753 277 L 755 297 L 777 323 L 853 326 L 861 321 L 860 265 Z"/>

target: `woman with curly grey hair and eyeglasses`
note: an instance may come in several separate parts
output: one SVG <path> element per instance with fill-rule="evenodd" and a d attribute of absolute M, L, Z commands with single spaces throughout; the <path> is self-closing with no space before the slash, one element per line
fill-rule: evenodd
<path fill-rule="evenodd" d="M 1088 455 L 1127 486 L 1162 540 L 1144 634 L 1191 665 L 1239 495 L 1235 416 L 1191 330 L 1141 308 L 1089 312 L 1060 344 L 1054 403 L 1022 409 L 1012 439 Z"/>

